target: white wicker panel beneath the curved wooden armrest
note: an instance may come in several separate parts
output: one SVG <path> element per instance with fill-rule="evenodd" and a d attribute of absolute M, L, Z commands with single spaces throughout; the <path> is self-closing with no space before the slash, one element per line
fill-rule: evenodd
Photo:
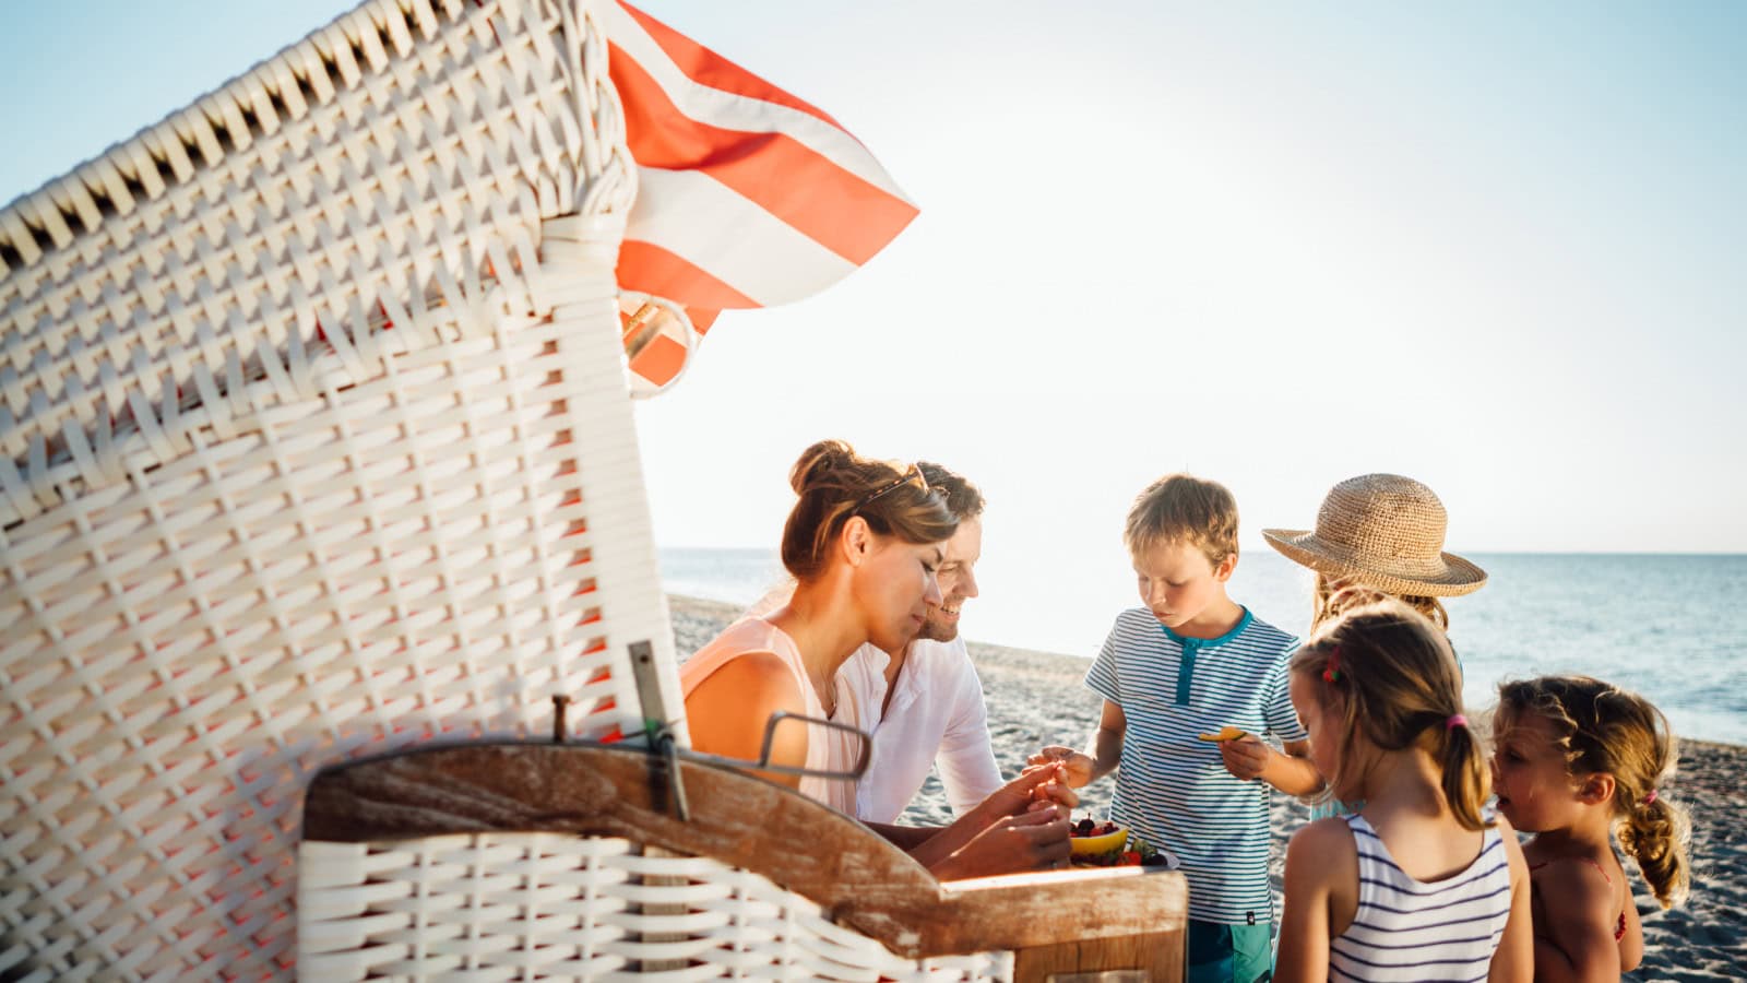
<path fill-rule="evenodd" d="M 907 960 L 763 876 L 552 833 L 304 843 L 299 966 L 321 980 L 1010 980 L 1012 953 Z"/>

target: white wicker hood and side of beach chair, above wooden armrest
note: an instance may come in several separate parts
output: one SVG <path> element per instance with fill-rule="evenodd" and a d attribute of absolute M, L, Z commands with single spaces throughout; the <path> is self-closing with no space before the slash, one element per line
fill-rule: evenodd
<path fill-rule="evenodd" d="M 0 974 L 288 974 L 314 768 L 676 691 L 603 54 L 372 2 L 0 212 Z"/>

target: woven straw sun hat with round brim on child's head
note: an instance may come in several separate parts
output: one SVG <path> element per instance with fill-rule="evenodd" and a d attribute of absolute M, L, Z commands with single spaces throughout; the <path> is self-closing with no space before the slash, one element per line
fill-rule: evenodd
<path fill-rule="evenodd" d="M 1312 570 L 1408 596 L 1457 596 L 1487 572 L 1443 551 L 1443 502 L 1412 478 L 1361 474 L 1328 490 L 1315 532 L 1265 528 L 1268 546 Z"/>

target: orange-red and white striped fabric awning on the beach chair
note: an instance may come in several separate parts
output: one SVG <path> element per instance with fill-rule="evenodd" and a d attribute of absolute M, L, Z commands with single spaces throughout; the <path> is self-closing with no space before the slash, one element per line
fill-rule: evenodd
<path fill-rule="evenodd" d="M 639 388 L 673 381 L 722 310 L 816 294 L 915 219 L 816 107 L 627 3 L 606 7 L 606 35 L 638 164 L 618 287 Z"/>

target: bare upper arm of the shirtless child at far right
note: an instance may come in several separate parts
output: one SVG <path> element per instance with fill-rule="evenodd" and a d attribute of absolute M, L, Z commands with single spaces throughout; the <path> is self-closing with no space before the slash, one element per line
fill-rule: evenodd
<path fill-rule="evenodd" d="M 1619 980 L 1619 945 L 1614 943 L 1614 889 L 1579 859 L 1553 861 L 1534 889 L 1548 913 L 1534 925 L 1536 980 Z"/>

